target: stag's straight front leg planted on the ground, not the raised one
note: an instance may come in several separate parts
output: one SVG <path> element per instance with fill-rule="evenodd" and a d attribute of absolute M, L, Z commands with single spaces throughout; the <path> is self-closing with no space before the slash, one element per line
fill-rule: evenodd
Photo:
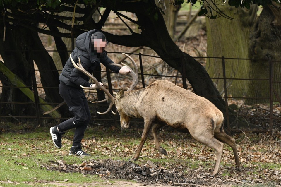
<path fill-rule="evenodd" d="M 136 151 L 135 155 L 129 160 L 129 161 L 136 161 L 138 157 L 140 156 L 140 151 L 143 148 L 143 145 L 145 143 L 145 140 L 147 138 L 148 133 L 150 132 L 152 123 L 154 121 L 155 117 L 153 118 L 143 118 L 144 120 L 144 128 L 143 133 L 141 135 L 140 145 L 138 146 L 138 150 Z"/>

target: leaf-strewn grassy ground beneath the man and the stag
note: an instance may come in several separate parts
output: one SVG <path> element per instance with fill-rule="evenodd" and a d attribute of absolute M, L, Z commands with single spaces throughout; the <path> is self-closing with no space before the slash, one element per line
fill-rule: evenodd
<path fill-rule="evenodd" d="M 15 128 L 12 124 L 9 127 Z M 68 150 L 72 144 L 70 139 L 73 137 L 73 130 L 66 132 L 65 135 L 70 139 L 63 138 L 64 146 L 62 149 L 56 149 L 49 136 L 49 127 L 37 128 L 33 132 L 25 132 L 23 128 L 26 129 L 26 127 L 27 125 L 17 126 L 16 129 L 13 129 L 16 133 L 0 134 L 0 186 L 13 186 L 18 183 L 20 186 L 42 185 L 42 182 L 38 183 L 38 181 L 74 183 L 78 186 L 86 182 L 102 183 L 104 180 L 97 175 L 84 175 L 80 172 L 63 173 L 48 171 L 46 166 L 56 164 L 58 161 L 63 161 L 64 164 L 81 164 L 83 162 L 90 162 L 90 159 L 110 158 L 113 160 L 128 160 L 135 153 L 142 133 L 141 128 L 122 131 L 120 129 L 104 128 L 103 126 L 88 128 L 85 132 L 84 145 L 86 145 L 87 151 L 93 156 L 76 157 L 68 156 Z M 95 139 L 88 139 L 92 135 L 94 135 Z M 136 161 L 137 164 L 145 164 L 150 160 L 153 163 L 162 165 L 162 167 L 166 167 L 166 169 L 173 169 L 169 168 L 171 164 L 174 164 L 173 167 L 176 167 L 175 164 L 181 164 L 188 166 L 189 171 L 186 171 L 186 173 L 202 166 L 203 170 L 205 169 L 204 171 L 210 172 L 213 170 L 216 153 L 195 141 L 190 135 L 161 131 L 159 136 L 160 144 L 167 150 L 168 156 L 158 153 L 153 144 L 153 138 L 150 135 L 143 147 L 139 160 Z M 251 139 L 247 138 L 248 136 Z M 276 152 L 274 152 L 274 146 L 279 147 L 281 144 L 280 139 L 272 140 L 272 138 L 269 138 L 266 140 L 266 137 L 261 138 L 259 136 L 255 139 L 254 135 L 249 134 L 243 134 L 236 137 L 236 139 L 239 139 L 237 146 L 241 150 L 239 155 L 241 156 L 242 168 L 249 170 L 245 171 L 244 174 L 249 176 L 251 180 L 254 181 L 256 178 L 259 178 L 268 182 L 268 175 L 263 171 L 281 170 L 280 159 L 278 159 L 278 154 L 276 155 Z M 254 146 L 259 147 L 259 149 L 251 148 Z M 267 150 L 267 152 L 259 152 L 260 150 Z M 274 158 L 275 160 L 267 162 L 265 158 L 268 155 L 274 154 L 275 156 L 270 159 Z M 251 159 L 255 160 L 255 162 L 251 162 Z M 236 176 L 232 169 L 229 169 L 233 167 L 232 149 L 225 145 L 220 176 Z M 53 184 L 46 184 L 44 186 L 48 185 L 56 186 Z"/>

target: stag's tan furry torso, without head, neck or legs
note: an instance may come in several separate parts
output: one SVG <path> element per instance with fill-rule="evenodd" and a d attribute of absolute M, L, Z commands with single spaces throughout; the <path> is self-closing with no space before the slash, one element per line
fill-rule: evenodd
<path fill-rule="evenodd" d="M 136 108 L 142 117 L 157 116 L 157 120 L 175 128 L 211 120 L 220 126 L 223 121 L 222 112 L 209 100 L 167 80 L 156 80 L 144 88 Z"/>

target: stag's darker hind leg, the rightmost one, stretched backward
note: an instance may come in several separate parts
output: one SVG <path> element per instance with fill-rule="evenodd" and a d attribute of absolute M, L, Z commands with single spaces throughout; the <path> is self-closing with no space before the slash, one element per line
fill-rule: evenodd
<path fill-rule="evenodd" d="M 238 152 L 237 152 L 236 143 L 235 143 L 234 138 L 227 135 L 224 131 L 220 131 L 220 132 L 215 131 L 214 136 L 215 136 L 215 138 L 217 138 L 218 140 L 220 140 L 223 143 L 226 143 L 227 145 L 229 145 L 232 148 L 233 154 L 234 154 L 234 159 L 235 159 L 235 169 L 237 171 L 241 171 L 239 156 L 238 156 Z"/>

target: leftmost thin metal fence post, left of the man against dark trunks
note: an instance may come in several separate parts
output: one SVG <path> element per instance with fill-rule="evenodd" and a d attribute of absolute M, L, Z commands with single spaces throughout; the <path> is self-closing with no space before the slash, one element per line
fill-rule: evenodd
<path fill-rule="evenodd" d="M 30 50 L 28 50 L 28 55 L 29 55 L 29 63 L 30 63 L 30 66 L 31 66 L 31 71 L 32 71 L 32 88 L 33 88 L 33 94 L 34 94 L 34 102 L 35 102 L 35 111 L 36 111 L 37 123 L 38 123 L 38 125 L 41 125 L 40 106 L 39 106 L 39 97 L 38 97 L 35 69 L 34 69 L 33 60 L 31 58 Z"/>

